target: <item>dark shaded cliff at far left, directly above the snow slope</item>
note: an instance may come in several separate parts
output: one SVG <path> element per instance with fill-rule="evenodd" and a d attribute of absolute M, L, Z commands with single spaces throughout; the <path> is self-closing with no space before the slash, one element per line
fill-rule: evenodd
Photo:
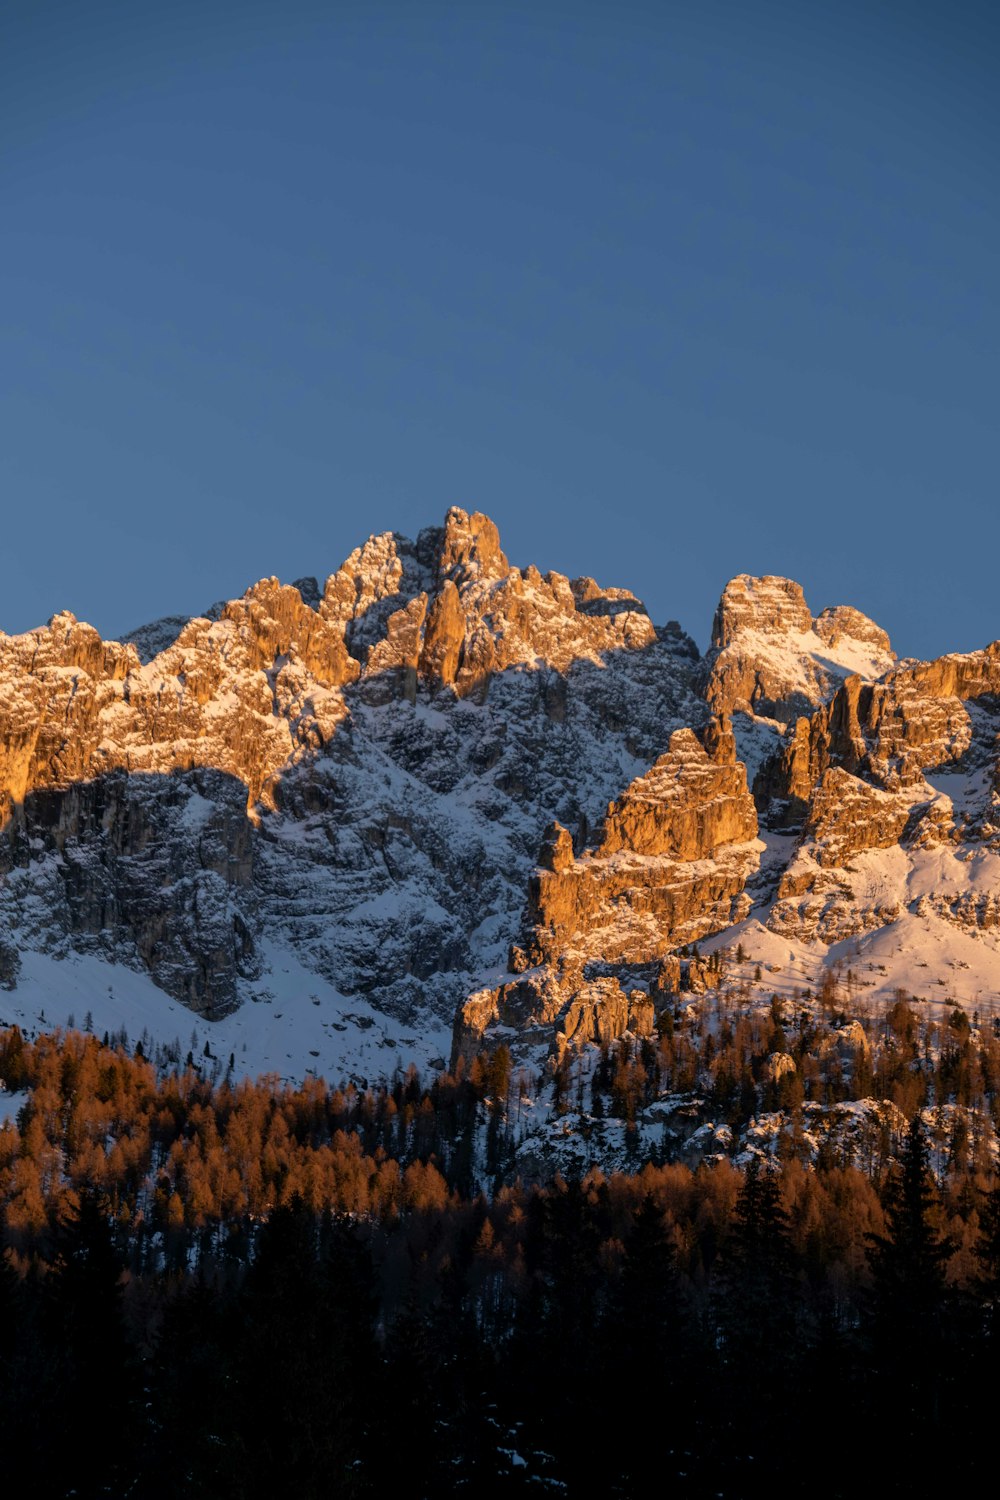
<path fill-rule="evenodd" d="M 255 828 L 232 777 L 117 771 L 42 788 L 18 806 L 0 858 L 1 920 L 42 951 L 132 963 L 208 1017 L 259 972 Z"/>

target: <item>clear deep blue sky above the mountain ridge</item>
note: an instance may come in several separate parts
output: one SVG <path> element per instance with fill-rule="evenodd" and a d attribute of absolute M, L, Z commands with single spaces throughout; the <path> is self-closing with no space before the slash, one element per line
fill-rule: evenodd
<path fill-rule="evenodd" d="M 702 646 L 1000 636 L 999 78 L 964 0 L 4 0 L 0 627 L 462 504 Z"/>

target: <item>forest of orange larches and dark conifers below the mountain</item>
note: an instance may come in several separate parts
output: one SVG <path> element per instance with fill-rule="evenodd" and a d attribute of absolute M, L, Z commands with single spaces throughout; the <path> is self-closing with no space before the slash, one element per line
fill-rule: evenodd
<path fill-rule="evenodd" d="M 798 1020 L 735 1017 L 714 1042 L 733 1118 L 771 1102 L 754 1058 L 819 1024 Z M 693 1497 L 892 1494 L 945 1452 L 985 1484 L 1000 1179 L 982 1144 L 936 1148 L 924 1106 L 948 1086 L 990 1114 L 996 1038 L 903 1000 L 877 1026 L 898 1078 L 874 1048 L 861 1084 L 918 1086 L 864 1166 L 658 1152 L 534 1182 L 511 1170 L 502 1050 L 358 1090 L 9 1029 L 7 1454 L 51 1496 L 631 1496 L 651 1472 Z M 591 1107 L 628 1124 L 654 1068 L 660 1088 L 703 1046 L 666 1026 L 607 1050 Z M 564 1108 L 558 1068 L 546 1088 Z"/>

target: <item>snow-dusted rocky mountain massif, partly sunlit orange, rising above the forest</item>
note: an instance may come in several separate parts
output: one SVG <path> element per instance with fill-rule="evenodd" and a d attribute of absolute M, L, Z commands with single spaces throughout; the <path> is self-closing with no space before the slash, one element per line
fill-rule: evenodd
<path fill-rule="evenodd" d="M 900 663 L 780 578 L 702 658 L 459 508 L 121 642 L 55 615 L 0 636 L 0 1020 L 373 1077 L 649 1034 L 720 950 L 762 1004 L 988 1006 L 997 694 L 1000 645 Z"/>

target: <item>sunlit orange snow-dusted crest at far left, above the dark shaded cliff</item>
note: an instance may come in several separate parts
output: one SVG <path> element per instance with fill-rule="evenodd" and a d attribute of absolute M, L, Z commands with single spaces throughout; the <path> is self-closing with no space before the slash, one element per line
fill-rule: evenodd
<path fill-rule="evenodd" d="M 357 672 L 342 636 L 276 579 L 217 621 L 189 621 L 145 666 L 69 614 L 0 634 L 0 822 L 37 788 L 115 770 L 225 771 L 253 806 L 298 752 L 330 738 Z"/>

